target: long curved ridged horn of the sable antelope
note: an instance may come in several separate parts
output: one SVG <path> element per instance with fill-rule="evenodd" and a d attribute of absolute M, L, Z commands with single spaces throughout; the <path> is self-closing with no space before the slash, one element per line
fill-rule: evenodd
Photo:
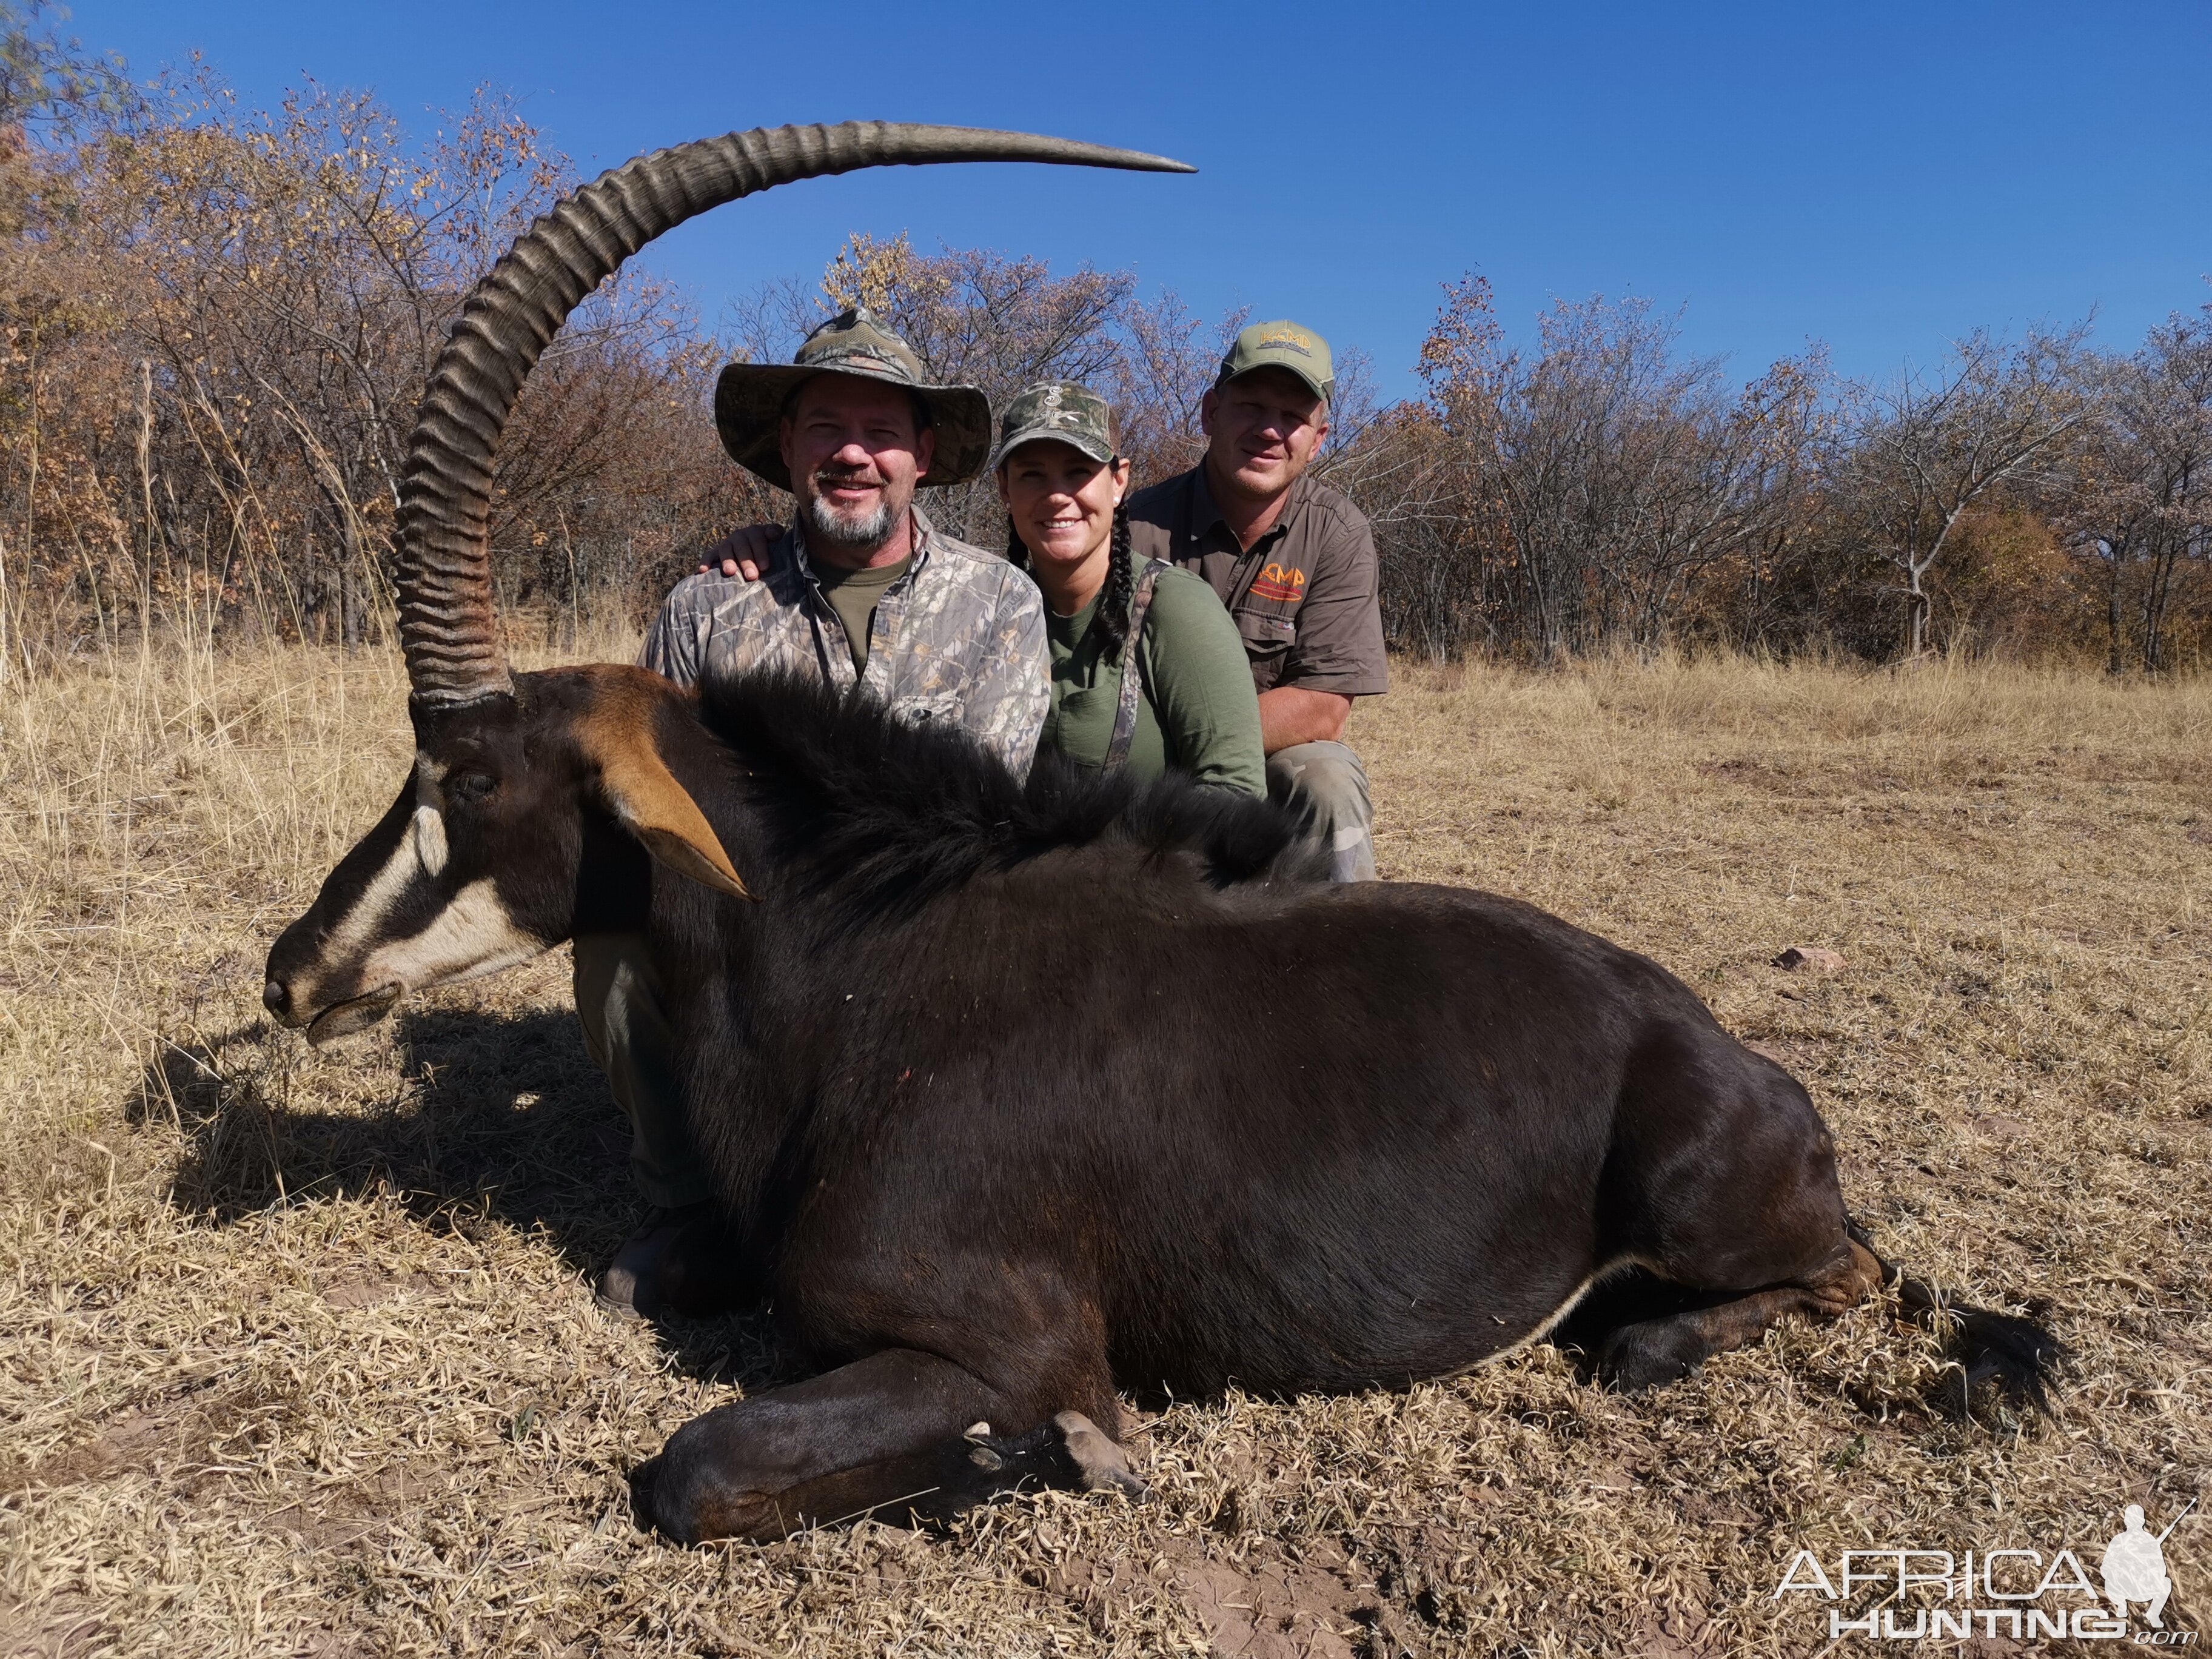
<path fill-rule="evenodd" d="M 425 708 L 513 692 L 491 611 L 491 462 L 540 352 L 582 299 L 664 230 L 794 179 L 925 161 L 1055 161 L 1192 173 L 1102 144 L 971 126 L 774 126 L 641 155 L 562 197 L 476 285 L 438 354 L 400 484 L 407 681 Z"/>

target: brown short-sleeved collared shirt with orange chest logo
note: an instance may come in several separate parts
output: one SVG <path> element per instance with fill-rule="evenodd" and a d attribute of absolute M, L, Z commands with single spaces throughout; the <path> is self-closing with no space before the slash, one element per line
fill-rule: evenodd
<path fill-rule="evenodd" d="M 1199 462 L 1130 495 L 1128 538 L 1139 557 L 1197 571 L 1221 595 L 1259 690 L 1389 690 L 1374 524 L 1327 484 L 1292 484 L 1274 529 L 1245 551 Z"/>

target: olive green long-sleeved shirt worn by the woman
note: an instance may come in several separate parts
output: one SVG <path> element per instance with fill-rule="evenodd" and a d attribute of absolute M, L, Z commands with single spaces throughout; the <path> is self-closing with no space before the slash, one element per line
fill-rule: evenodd
<path fill-rule="evenodd" d="M 1053 710 L 1040 748 L 1079 765 L 1104 765 L 1121 703 L 1121 659 L 1091 628 L 1099 602 L 1073 617 L 1044 611 L 1053 648 Z M 1190 571 L 1161 571 L 1137 641 L 1137 730 L 1128 770 L 1157 779 L 1170 765 L 1201 783 L 1267 794 L 1259 743 L 1259 692 L 1237 624 L 1214 591 Z"/>

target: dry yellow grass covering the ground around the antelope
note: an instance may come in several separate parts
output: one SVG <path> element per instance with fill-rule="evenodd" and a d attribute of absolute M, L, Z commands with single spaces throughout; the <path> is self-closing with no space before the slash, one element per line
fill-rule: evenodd
<path fill-rule="evenodd" d="M 0 1655 L 1814 1652 L 1798 1548 L 2095 1548 L 2203 1484 L 2208 681 L 1405 670 L 1354 732 L 1387 874 L 1668 962 L 1812 1086 L 1893 1254 L 2039 1296 L 2055 1422 L 1944 1413 L 1867 1310 L 1641 1400 L 1537 1349 L 1175 1409 L 1141 1506 L 708 1551 L 635 1535 L 622 1473 L 779 1356 L 595 1312 L 633 1199 L 564 958 L 323 1055 L 261 1020 L 396 785 L 394 664 L 0 699 Z M 2168 1624 L 2212 1613 L 2201 1513 Z"/>

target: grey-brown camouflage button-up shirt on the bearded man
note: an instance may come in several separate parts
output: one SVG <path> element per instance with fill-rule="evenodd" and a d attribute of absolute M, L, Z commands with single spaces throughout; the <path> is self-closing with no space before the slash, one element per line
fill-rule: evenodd
<path fill-rule="evenodd" d="M 1053 703 L 1044 599 L 1006 560 L 938 535 L 914 511 L 914 564 L 876 602 L 867 670 L 823 595 L 799 531 L 759 582 L 692 575 L 661 606 L 639 661 L 679 686 L 752 668 L 858 684 L 905 721 L 956 721 L 1015 776 L 1029 774 Z"/>

